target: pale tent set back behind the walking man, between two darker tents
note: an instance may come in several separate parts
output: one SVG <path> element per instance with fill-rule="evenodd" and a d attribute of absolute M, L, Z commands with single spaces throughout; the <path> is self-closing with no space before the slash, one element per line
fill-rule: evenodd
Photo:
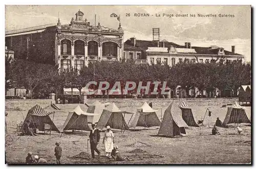
<path fill-rule="evenodd" d="M 99 118 L 102 114 L 103 109 L 106 105 L 100 103 L 99 101 L 95 101 L 93 104 L 89 105 L 87 112 L 90 114 L 98 114 L 96 116 L 88 116 L 88 123 L 98 123 Z"/>

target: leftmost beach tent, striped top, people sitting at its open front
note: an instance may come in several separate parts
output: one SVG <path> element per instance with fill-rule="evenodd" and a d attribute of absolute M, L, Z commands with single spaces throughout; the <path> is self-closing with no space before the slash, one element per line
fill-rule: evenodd
<path fill-rule="evenodd" d="M 59 132 L 58 128 L 55 126 L 52 119 L 49 117 L 49 115 L 53 113 L 54 112 L 47 112 L 40 105 L 36 104 L 34 107 L 29 109 L 24 124 L 27 123 L 27 121 L 32 121 L 36 124 L 36 127 L 39 131 L 45 131 L 45 124 L 49 124 L 51 126 L 51 131 Z M 20 130 L 22 132 L 24 131 L 24 124 Z"/>

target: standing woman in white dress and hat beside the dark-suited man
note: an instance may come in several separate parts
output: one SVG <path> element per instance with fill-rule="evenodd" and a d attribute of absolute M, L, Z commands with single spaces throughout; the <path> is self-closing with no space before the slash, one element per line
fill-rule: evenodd
<path fill-rule="evenodd" d="M 114 134 L 111 131 L 110 126 L 106 126 L 102 144 L 105 144 L 106 156 L 110 157 L 111 152 L 114 149 Z"/>

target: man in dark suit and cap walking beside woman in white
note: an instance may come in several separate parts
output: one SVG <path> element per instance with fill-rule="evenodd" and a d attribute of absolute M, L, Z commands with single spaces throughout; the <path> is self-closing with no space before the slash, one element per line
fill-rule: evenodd
<path fill-rule="evenodd" d="M 95 128 L 95 123 L 92 123 L 92 130 L 88 139 L 90 139 L 92 158 L 95 158 L 94 151 L 96 151 L 98 156 L 100 156 L 100 152 L 97 149 L 97 145 L 99 144 L 100 139 L 100 131 Z"/>

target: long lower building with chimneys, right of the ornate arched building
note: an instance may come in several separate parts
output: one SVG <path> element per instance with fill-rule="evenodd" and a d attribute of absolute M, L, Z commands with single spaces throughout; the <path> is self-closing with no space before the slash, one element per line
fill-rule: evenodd
<path fill-rule="evenodd" d="M 170 66 L 184 61 L 206 63 L 218 58 L 230 61 L 237 59 L 245 61 L 244 55 L 235 52 L 235 46 L 231 46 L 231 51 L 227 51 L 222 47 L 214 45 L 210 47 L 197 47 L 191 46 L 189 42 L 185 42 L 183 46 L 166 40 L 145 41 L 131 38 L 124 42 L 124 51 L 126 59 L 142 59 L 146 61 L 139 61 L 140 63 L 149 64 L 165 62 Z M 138 52 L 142 53 L 142 57 L 138 58 Z"/>

